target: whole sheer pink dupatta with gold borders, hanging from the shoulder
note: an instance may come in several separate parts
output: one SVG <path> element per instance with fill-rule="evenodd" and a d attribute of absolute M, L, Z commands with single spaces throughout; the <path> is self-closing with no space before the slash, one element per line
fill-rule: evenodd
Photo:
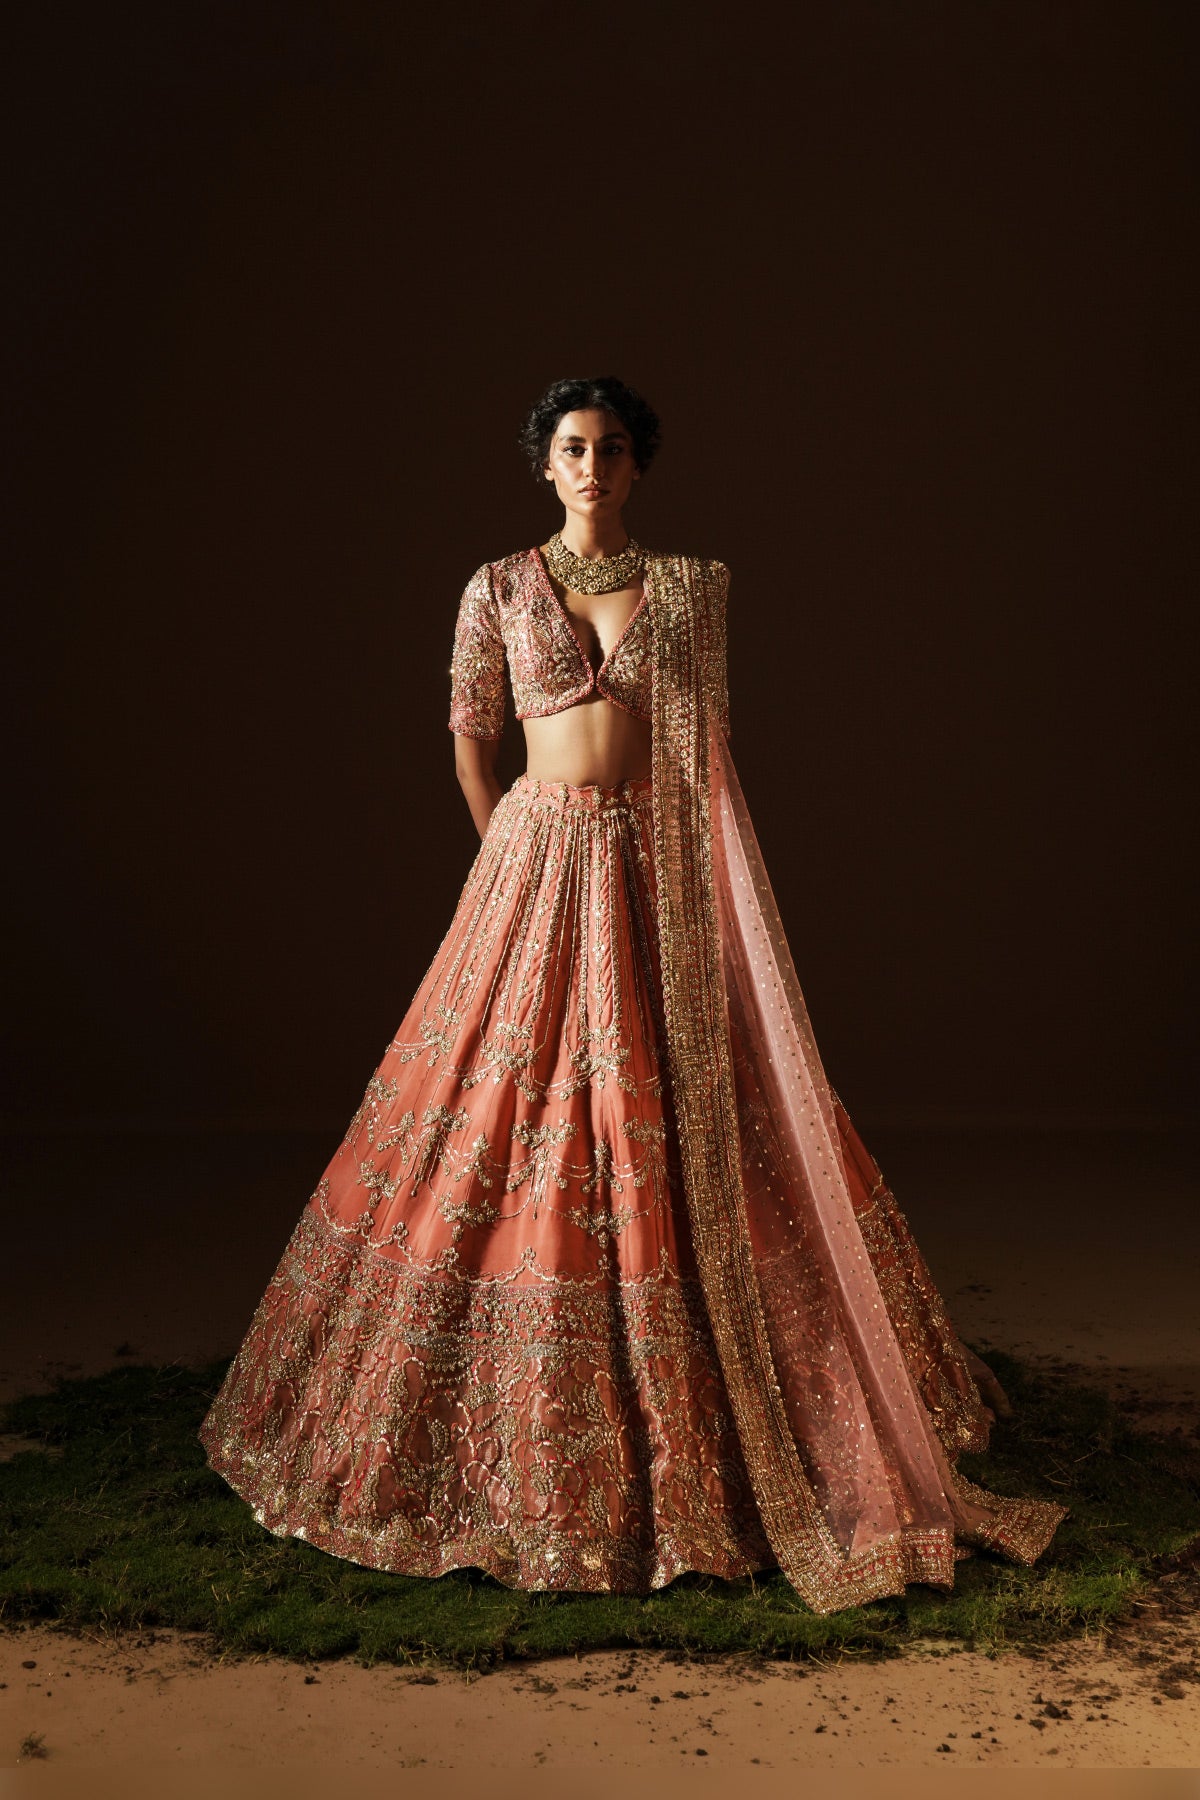
<path fill-rule="evenodd" d="M 653 567 L 669 1075 L 696 1262 L 763 1525 L 797 1593 L 833 1611 L 910 1580 L 952 1586 L 955 1543 L 1033 1561 L 1065 1508 L 986 1494 L 954 1469 L 961 1449 L 982 1447 L 990 1415 L 882 1177 L 862 1183 L 862 1147 L 820 1064 L 720 729 L 721 576 L 689 558 Z"/>

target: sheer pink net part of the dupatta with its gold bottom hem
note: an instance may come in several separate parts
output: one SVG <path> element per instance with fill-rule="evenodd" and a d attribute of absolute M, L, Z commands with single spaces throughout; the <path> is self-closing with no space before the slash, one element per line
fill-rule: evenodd
<path fill-rule="evenodd" d="M 810 1487 L 781 1566 L 833 1611 L 910 1580 L 950 1586 L 955 1541 L 1031 1562 L 1065 1508 L 988 1494 L 954 1469 L 961 1449 L 986 1444 L 990 1413 L 829 1089 L 732 758 L 712 724 L 707 736 L 745 1233 Z"/>

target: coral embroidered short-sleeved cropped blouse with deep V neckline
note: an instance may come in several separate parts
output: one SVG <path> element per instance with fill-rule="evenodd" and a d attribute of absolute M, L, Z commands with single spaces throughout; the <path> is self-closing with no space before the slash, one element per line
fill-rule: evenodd
<path fill-rule="evenodd" d="M 723 563 L 716 567 L 729 576 Z M 466 738 L 500 736 L 506 659 L 518 718 L 563 713 L 596 691 L 649 722 L 655 659 L 648 581 L 642 580 L 642 598 L 628 625 L 594 668 L 538 547 L 484 563 L 459 603 L 450 662 L 452 731 Z M 729 731 L 727 720 L 721 724 Z"/>

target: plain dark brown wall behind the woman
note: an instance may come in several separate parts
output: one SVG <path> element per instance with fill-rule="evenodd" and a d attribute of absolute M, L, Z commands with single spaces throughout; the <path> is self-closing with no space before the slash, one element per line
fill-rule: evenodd
<path fill-rule="evenodd" d="M 851 1109 L 1187 1109 L 1187 7 L 27 11 L 11 1112 L 349 1114 L 601 371 Z"/>

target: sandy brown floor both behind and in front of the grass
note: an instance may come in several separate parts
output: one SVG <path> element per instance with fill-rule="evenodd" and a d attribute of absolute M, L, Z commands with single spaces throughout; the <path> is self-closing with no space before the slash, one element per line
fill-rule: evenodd
<path fill-rule="evenodd" d="M 1159 1134 L 874 1134 L 959 1328 L 1099 1381 L 1160 1429 L 1200 1429 L 1200 1206 L 1193 1143 Z M 16 1141 L 13 1267 L 0 1391 L 113 1361 L 193 1361 L 236 1346 L 327 1136 Z M 63 1181 L 86 1154 L 90 1181 Z M 56 1242 L 45 1258 L 45 1179 Z M 74 1208 L 74 1215 L 72 1215 Z M 65 1217 L 65 1211 L 68 1217 Z M 853 1771 L 921 1771 L 921 1793 L 964 1766 L 1096 1771 L 1200 1768 L 1200 1573 L 1168 1575 L 1105 1642 L 995 1660 L 939 1645 L 883 1663 L 763 1665 L 596 1652 L 495 1670 L 304 1667 L 230 1660 L 173 1633 L 74 1638 L 0 1633 L 0 1800 L 7 1793 L 184 1796 L 185 1784 L 263 1796 L 353 1775 L 389 1793 L 657 1795 L 738 1771 L 754 1791 L 849 1793 Z M 32 1742 L 31 1742 L 32 1741 Z M 25 1746 L 25 1750 L 22 1750 Z M 43 1750 L 45 1755 L 36 1751 Z M 86 1773 L 85 1773 L 86 1771 Z M 401 1775 L 403 1771 L 403 1775 Z M 398 1780 L 398 1777 L 401 1777 Z M 86 1786 L 72 1786 L 72 1778 Z M 981 1791 L 999 1791 L 995 1786 Z M 999 1777 L 997 1777 L 999 1780 Z M 1031 1787 L 1029 1784 L 1034 1784 Z M 65 1786 L 63 1786 L 65 1784 Z M 367 1784 L 367 1786 L 363 1786 Z M 282 1789 L 279 1789 L 282 1791 Z M 381 1789 L 380 1789 L 381 1791 Z M 513 1786 L 513 1791 L 516 1787 Z M 829 1789 L 833 1791 L 833 1787 Z M 894 1784 L 869 1791 L 896 1791 Z M 1006 1789 L 1007 1791 L 1007 1789 Z M 1124 1789 L 1121 1789 L 1124 1791 Z M 1141 1791 L 1141 1789 L 1139 1789 Z M 1166 1793 L 1168 1787 L 1146 1789 Z M 1200 1795 L 1191 1775 L 1171 1793 Z"/>

